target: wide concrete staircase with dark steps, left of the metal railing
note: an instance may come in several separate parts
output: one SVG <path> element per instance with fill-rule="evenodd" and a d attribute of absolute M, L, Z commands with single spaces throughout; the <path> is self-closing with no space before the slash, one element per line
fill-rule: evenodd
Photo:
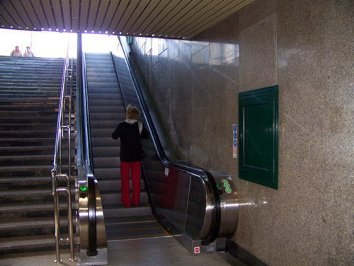
<path fill-rule="evenodd" d="M 0 57 L 0 255 L 55 249 L 50 170 L 63 67 L 64 59 Z"/>

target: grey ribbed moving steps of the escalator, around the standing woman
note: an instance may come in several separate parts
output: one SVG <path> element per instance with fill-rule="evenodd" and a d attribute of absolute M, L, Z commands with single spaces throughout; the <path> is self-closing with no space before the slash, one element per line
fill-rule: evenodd
<path fill-rule="evenodd" d="M 124 59 L 121 62 L 125 64 Z M 86 53 L 86 71 L 94 174 L 100 188 L 108 241 L 166 236 L 152 216 L 143 180 L 138 207 L 123 207 L 120 199 L 120 139 L 112 139 L 111 134 L 125 120 L 125 108 L 111 55 Z M 127 81 L 122 78 L 120 82 Z"/>

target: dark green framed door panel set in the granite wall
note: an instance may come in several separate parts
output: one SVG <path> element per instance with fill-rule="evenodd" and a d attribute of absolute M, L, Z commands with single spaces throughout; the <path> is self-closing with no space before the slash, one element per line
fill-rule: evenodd
<path fill-rule="evenodd" d="M 278 86 L 239 93 L 239 178 L 278 189 Z"/>

